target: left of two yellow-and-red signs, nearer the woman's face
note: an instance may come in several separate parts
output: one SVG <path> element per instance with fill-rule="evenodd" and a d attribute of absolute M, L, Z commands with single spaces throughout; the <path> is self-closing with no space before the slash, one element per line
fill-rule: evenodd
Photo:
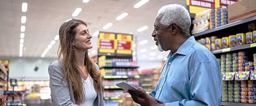
<path fill-rule="evenodd" d="M 101 53 L 115 53 L 115 34 L 100 32 L 98 39 L 98 49 Z"/>

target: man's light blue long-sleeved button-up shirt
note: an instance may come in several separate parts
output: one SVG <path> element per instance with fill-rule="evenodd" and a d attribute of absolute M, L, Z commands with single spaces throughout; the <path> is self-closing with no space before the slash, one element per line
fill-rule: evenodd
<path fill-rule="evenodd" d="M 165 105 L 221 105 L 221 71 L 215 56 L 188 38 L 167 56 L 158 83 L 150 95 Z"/>

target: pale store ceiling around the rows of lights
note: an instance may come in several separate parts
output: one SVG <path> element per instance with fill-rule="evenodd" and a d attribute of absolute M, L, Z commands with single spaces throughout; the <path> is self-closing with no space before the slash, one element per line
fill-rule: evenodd
<path fill-rule="evenodd" d="M 155 45 L 151 32 L 157 11 L 167 4 L 186 5 L 185 0 L 150 0 L 139 8 L 133 5 L 140 0 L 90 0 L 83 3 L 82 0 L 0 0 L 0 57 L 19 57 L 20 27 L 26 26 L 23 55 L 20 58 L 35 57 L 42 58 L 44 50 L 58 34 L 61 23 L 70 19 L 71 14 L 77 7 L 82 8 L 77 19 L 82 19 L 89 25 L 92 33 L 95 31 L 133 33 L 134 42 L 148 40 L 145 45 L 137 45 L 134 48 L 139 60 L 162 60 L 168 52 L 159 52 L 157 49 L 151 50 Z M 21 12 L 22 2 L 28 3 L 27 12 Z M 117 21 L 116 17 L 126 12 L 123 20 Z M 21 23 L 21 16 L 27 16 L 25 24 Z M 113 26 L 107 30 L 102 27 L 108 22 Z M 149 28 L 142 32 L 137 29 L 147 25 Z M 97 50 L 98 37 L 92 38 L 93 48 Z M 56 58 L 59 41 L 52 46 L 44 58 Z M 141 53 L 141 49 L 147 49 Z M 156 52 L 150 56 L 151 52 Z M 91 54 L 95 55 L 95 54 Z M 163 58 L 159 57 L 163 55 Z M 157 58 L 158 56 L 158 58 Z"/>

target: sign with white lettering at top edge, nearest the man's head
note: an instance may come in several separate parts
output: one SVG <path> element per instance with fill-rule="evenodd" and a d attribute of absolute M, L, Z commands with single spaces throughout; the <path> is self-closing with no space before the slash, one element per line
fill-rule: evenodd
<path fill-rule="evenodd" d="M 196 0 L 190 0 L 190 5 L 199 6 L 199 7 L 207 7 L 207 8 L 215 8 L 215 3 L 202 2 Z"/>

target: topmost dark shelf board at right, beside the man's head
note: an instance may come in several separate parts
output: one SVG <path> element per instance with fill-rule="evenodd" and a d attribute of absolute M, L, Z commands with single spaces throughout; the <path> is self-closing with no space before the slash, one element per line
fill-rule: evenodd
<path fill-rule="evenodd" d="M 252 17 L 249 17 L 247 19 L 243 19 L 243 20 L 240 20 L 240 21 L 236 21 L 236 22 L 233 22 L 233 23 L 222 25 L 222 26 L 214 28 L 214 29 L 210 29 L 210 30 L 206 30 L 206 31 L 203 31 L 203 32 L 199 32 L 199 33 L 193 34 L 193 36 L 194 37 L 203 36 L 205 34 L 209 34 L 209 33 L 220 31 L 220 30 L 225 30 L 227 28 L 231 28 L 231 27 L 234 27 L 236 25 L 243 24 L 243 23 L 246 23 L 246 22 L 250 22 L 250 21 L 253 21 L 253 20 L 256 20 L 256 16 L 252 16 Z"/>

